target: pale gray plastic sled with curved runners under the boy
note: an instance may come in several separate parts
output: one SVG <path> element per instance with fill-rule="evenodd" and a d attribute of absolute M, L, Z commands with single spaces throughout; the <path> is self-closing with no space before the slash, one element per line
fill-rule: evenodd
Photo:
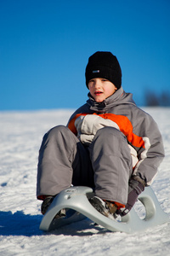
<path fill-rule="evenodd" d="M 54 198 L 48 208 L 48 212 L 42 218 L 40 230 L 56 230 L 65 224 L 89 218 L 107 230 L 133 233 L 165 224 L 169 221 L 167 213 L 161 209 L 156 195 L 150 187 L 146 187 L 144 192 L 139 195 L 139 201 L 144 205 L 144 218 L 139 217 L 134 207 L 119 220 L 106 218 L 89 203 L 88 199 L 93 195 L 93 189 L 88 187 L 71 187 L 61 191 Z M 56 213 L 63 208 L 66 209 L 66 216 L 64 218 L 54 218 Z"/>

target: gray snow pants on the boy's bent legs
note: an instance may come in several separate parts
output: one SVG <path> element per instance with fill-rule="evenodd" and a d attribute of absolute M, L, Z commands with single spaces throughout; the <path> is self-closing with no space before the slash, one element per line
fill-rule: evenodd
<path fill-rule="evenodd" d="M 127 139 L 121 131 L 97 131 L 88 148 L 64 125 L 43 137 L 37 168 L 37 198 L 57 195 L 74 186 L 94 188 L 108 201 L 127 202 L 128 179 L 133 172 Z"/>

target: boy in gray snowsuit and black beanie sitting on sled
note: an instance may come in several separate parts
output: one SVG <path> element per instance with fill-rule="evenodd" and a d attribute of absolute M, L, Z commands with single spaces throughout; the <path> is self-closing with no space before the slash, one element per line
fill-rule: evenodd
<path fill-rule="evenodd" d="M 106 217 L 126 215 L 164 157 L 160 131 L 122 89 L 111 52 L 96 52 L 86 67 L 88 101 L 43 137 L 37 172 L 42 214 L 54 196 L 74 186 L 94 188 L 90 203 Z M 65 214 L 60 211 L 56 218 Z"/>

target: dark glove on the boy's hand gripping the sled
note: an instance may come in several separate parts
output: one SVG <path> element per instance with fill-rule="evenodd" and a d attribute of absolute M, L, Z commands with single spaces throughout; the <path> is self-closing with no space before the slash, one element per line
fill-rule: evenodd
<path fill-rule="evenodd" d="M 116 214 L 125 216 L 132 209 L 133 205 L 138 199 L 138 196 L 142 191 L 144 191 L 145 182 L 138 175 L 134 175 L 130 178 L 128 182 L 128 197 L 127 204 L 125 208 L 119 209 L 116 211 Z"/>

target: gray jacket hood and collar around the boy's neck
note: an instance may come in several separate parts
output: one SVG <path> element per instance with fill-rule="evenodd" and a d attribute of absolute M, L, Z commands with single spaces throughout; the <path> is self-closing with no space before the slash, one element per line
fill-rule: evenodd
<path fill-rule="evenodd" d="M 103 102 L 95 102 L 93 96 L 91 96 L 90 93 L 88 93 L 88 97 L 89 99 L 87 103 L 90 109 L 100 113 L 104 113 L 109 108 L 113 108 L 117 105 L 129 104 L 129 103 L 132 105 L 136 105 L 135 102 L 133 101 L 133 94 L 125 92 L 122 89 L 122 86 L 119 90 L 116 90 L 114 94 L 106 98 L 105 101 Z"/>

